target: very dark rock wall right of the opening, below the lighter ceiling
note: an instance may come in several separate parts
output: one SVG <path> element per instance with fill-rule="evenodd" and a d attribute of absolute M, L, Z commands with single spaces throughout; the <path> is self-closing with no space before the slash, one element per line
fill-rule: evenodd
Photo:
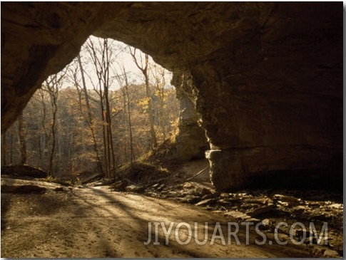
<path fill-rule="evenodd" d="M 192 69 L 218 189 L 281 170 L 341 180 L 341 15 L 317 6 L 279 4 L 251 41 Z"/>

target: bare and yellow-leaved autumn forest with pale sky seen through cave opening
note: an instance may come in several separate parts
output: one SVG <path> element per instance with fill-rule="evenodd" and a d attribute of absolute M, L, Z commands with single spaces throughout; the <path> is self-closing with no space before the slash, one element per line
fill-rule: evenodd
<path fill-rule="evenodd" d="M 113 178 L 175 134 L 170 78 L 138 49 L 91 36 L 1 135 L 1 165 L 39 167 L 66 180 L 83 172 Z"/>

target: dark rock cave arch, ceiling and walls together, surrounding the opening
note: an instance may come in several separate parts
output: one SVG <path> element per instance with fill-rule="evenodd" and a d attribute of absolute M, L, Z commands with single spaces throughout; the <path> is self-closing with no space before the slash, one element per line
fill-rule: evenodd
<path fill-rule="evenodd" d="M 2 2 L 1 133 L 88 36 L 114 38 L 173 71 L 192 111 L 178 156 L 205 152 L 216 189 L 342 190 L 342 12 L 341 2 Z"/>

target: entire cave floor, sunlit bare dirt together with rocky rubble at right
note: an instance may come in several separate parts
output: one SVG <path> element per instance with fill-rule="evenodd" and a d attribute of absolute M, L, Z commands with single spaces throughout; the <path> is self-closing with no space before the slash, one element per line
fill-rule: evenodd
<path fill-rule="evenodd" d="M 204 160 L 182 165 L 173 176 L 174 180 L 180 177 L 180 182 L 161 180 L 146 189 L 131 184 L 125 188 L 130 192 L 114 191 L 102 181 L 63 187 L 2 177 L 1 257 L 342 256 L 342 196 L 268 190 L 218 194 L 208 173 L 186 180 L 205 165 Z M 317 245 L 305 233 L 304 242 L 297 244 L 305 230 L 296 227 L 292 236 L 290 226 L 275 231 L 279 222 L 297 221 L 306 227 L 314 222 L 317 232 L 327 221 L 328 241 Z M 262 222 L 265 226 L 259 232 L 255 224 Z M 195 239 L 204 240 L 205 227 L 208 239 L 200 245 Z M 229 232 L 239 244 L 233 234 L 228 237 Z M 265 243 L 258 244 L 263 236 Z M 285 241 L 285 245 L 278 243 Z"/>

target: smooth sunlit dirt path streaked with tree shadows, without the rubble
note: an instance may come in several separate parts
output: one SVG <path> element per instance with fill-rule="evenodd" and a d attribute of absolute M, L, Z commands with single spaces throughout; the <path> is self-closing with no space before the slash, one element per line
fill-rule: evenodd
<path fill-rule="evenodd" d="M 240 245 L 231 240 L 223 245 L 216 238 L 210 245 L 216 222 L 220 222 L 227 243 L 227 222 L 218 214 L 195 206 L 178 204 L 138 194 L 110 192 L 107 187 L 49 191 L 46 194 L 1 194 L 1 257 L 306 257 L 306 247 L 255 244 L 258 234 L 250 232 L 245 244 L 245 227 L 240 227 Z M 162 232 L 160 245 L 148 240 L 148 222 L 174 222 L 168 245 Z M 181 245 L 175 239 L 175 227 L 208 222 L 208 241 Z M 153 232 L 154 228 L 152 229 Z M 188 239 L 188 229 L 179 229 L 179 239 Z M 194 233 L 192 233 L 194 234 Z M 185 236 L 185 237 L 184 237 Z M 260 238 L 260 240 L 262 240 Z"/>

